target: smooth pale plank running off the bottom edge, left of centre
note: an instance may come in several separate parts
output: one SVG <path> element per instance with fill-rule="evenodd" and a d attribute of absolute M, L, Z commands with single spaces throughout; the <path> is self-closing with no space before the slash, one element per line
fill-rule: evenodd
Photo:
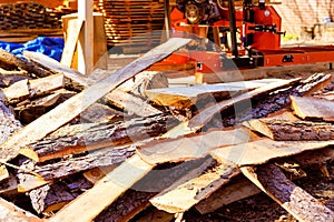
<path fill-rule="evenodd" d="M 61 209 L 49 221 L 75 221 L 78 215 L 82 222 L 94 220 L 106 206 L 149 172 L 153 167 L 144 162 L 138 155 L 134 155 L 97 182 L 92 189 Z"/>

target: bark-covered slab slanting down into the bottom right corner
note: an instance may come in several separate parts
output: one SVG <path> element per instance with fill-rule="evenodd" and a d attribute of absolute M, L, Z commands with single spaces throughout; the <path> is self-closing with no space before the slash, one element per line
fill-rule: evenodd
<path fill-rule="evenodd" d="M 296 220 L 334 221 L 333 211 L 291 182 L 278 167 L 267 164 L 257 170 L 246 167 L 242 168 L 242 172 Z"/>

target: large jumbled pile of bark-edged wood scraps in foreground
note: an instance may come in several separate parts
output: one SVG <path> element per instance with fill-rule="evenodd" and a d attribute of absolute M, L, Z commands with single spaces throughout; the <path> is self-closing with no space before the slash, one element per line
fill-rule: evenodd
<path fill-rule="evenodd" d="M 263 191 L 299 221 L 333 221 L 282 167 L 333 160 L 334 103 L 312 97 L 331 74 L 168 88 L 145 71 L 188 42 L 90 77 L 1 51 L 0 219 L 128 221 L 154 205 L 181 221 Z"/>

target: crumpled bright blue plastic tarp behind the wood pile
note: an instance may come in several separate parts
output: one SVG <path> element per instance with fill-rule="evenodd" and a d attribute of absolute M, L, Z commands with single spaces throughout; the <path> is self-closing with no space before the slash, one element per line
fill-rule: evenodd
<path fill-rule="evenodd" d="M 63 44 L 63 38 L 51 37 L 38 37 L 37 39 L 23 44 L 0 41 L 1 49 L 16 54 L 17 57 L 21 58 L 22 51 L 33 51 L 41 52 L 57 61 L 60 61 L 61 59 Z"/>

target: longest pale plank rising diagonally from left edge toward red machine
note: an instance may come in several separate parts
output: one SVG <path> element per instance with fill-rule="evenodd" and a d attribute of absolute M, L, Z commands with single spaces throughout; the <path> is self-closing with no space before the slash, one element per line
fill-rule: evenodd
<path fill-rule="evenodd" d="M 141 58 L 116 71 L 110 77 L 87 88 L 81 93 L 70 98 L 53 110 L 31 122 L 29 125 L 24 127 L 13 137 L 8 139 L 6 143 L 0 145 L 0 162 L 6 162 L 17 157 L 20 147 L 45 138 L 50 132 L 76 118 L 101 97 L 114 90 L 117 85 L 143 71 L 150 64 L 166 58 L 178 48 L 187 44 L 189 41 L 189 39 L 169 39 L 166 43 L 153 49 Z M 45 125 L 45 128 L 41 128 L 40 125 Z"/>

